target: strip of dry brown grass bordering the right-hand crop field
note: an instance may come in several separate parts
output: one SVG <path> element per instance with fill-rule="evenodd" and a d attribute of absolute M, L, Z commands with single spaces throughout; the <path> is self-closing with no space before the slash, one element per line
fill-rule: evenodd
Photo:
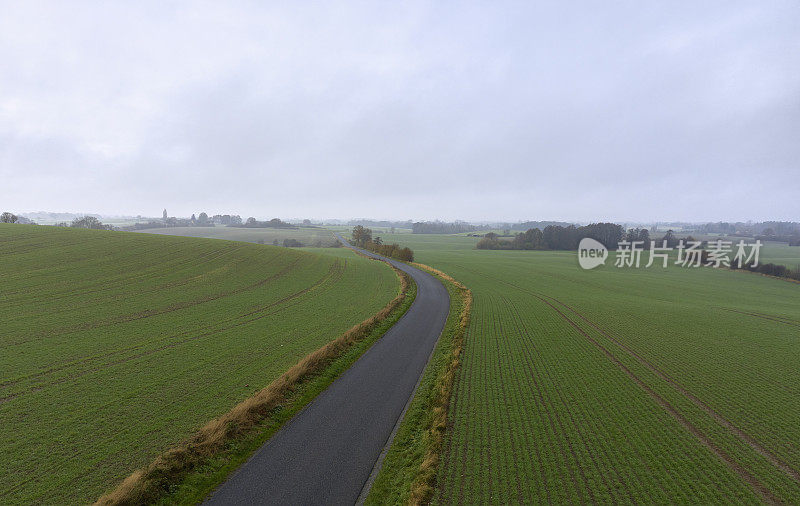
<path fill-rule="evenodd" d="M 433 496 L 436 469 L 441 459 L 445 432 L 447 430 L 447 411 L 450 406 L 450 398 L 453 395 L 456 371 L 461 364 L 464 335 L 466 334 L 470 314 L 472 312 L 472 291 L 461 284 L 461 282 L 438 269 L 419 263 L 414 263 L 412 265 L 449 281 L 455 285 L 462 298 L 458 327 L 452 338 L 453 349 L 450 354 L 450 361 L 436 379 L 437 386 L 433 402 L 433 418 L 427 433 L 427 450 L 425 451 L 425 457 L 422 459 L 417 476 L 411 484 L 411 495 L 408 498 L 408 504 L 419 505 L 427 504 Z"/>

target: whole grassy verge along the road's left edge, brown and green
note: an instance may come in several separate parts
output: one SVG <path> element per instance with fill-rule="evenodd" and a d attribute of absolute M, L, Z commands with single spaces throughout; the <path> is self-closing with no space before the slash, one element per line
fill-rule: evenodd
<path fill-rule="evenodd" d="M 131 474 L 96 504 L 202 501 L 405 314 L 416 296 L 416 285 L 405 273 L 392 269 L 400 289 L 378 313 L 306 355 L 265 388 Z"/>

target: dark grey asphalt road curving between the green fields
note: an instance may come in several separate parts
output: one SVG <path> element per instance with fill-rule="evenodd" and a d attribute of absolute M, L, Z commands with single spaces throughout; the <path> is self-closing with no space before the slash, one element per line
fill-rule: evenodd
<path fill-rule="evenodd" d="M 206 504 L 356 502 L 414 393 L 450 308 L 439 280 L 389 261 L 417 283 L 417 297 L 408 312 Z"/>

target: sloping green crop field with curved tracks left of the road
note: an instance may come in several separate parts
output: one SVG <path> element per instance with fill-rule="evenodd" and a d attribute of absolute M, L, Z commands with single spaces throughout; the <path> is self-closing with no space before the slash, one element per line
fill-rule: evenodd
<path fill-rule="evenodd" d="M 0 502 L 77 504 L 374 314 L 380 262 L 0 225 Z"/>

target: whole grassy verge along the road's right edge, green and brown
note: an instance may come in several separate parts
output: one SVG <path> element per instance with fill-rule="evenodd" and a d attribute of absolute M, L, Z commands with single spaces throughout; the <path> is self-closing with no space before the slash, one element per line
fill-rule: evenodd
<path fill-rule="evenodd" d="M 412 265 L 430 272 L 444 283 L 450 293 L 450 315 L 367 496 L 367 504 L 425 504 L 430 501 L 447 429 L 456 370 L 469 325 L 472 292 L 437 269 L 417 263 Z"/>

